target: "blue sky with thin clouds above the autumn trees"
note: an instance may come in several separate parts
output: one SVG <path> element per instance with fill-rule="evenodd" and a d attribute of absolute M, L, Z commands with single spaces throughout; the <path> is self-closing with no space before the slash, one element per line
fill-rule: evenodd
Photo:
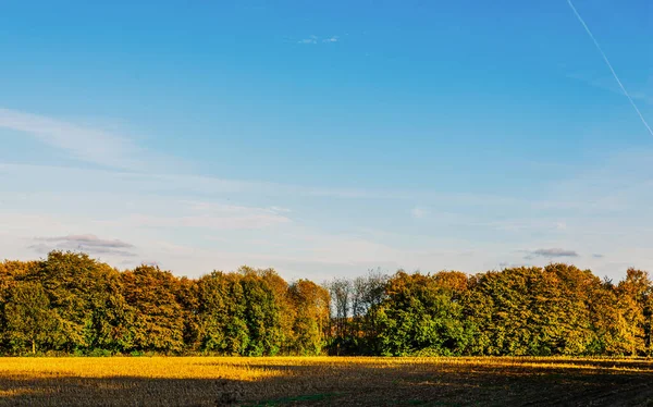
<path fill-rule="evenodd" d="M 0 258 L 653 271 L 653 3 L 572 5 L 0 1 Z"/>

